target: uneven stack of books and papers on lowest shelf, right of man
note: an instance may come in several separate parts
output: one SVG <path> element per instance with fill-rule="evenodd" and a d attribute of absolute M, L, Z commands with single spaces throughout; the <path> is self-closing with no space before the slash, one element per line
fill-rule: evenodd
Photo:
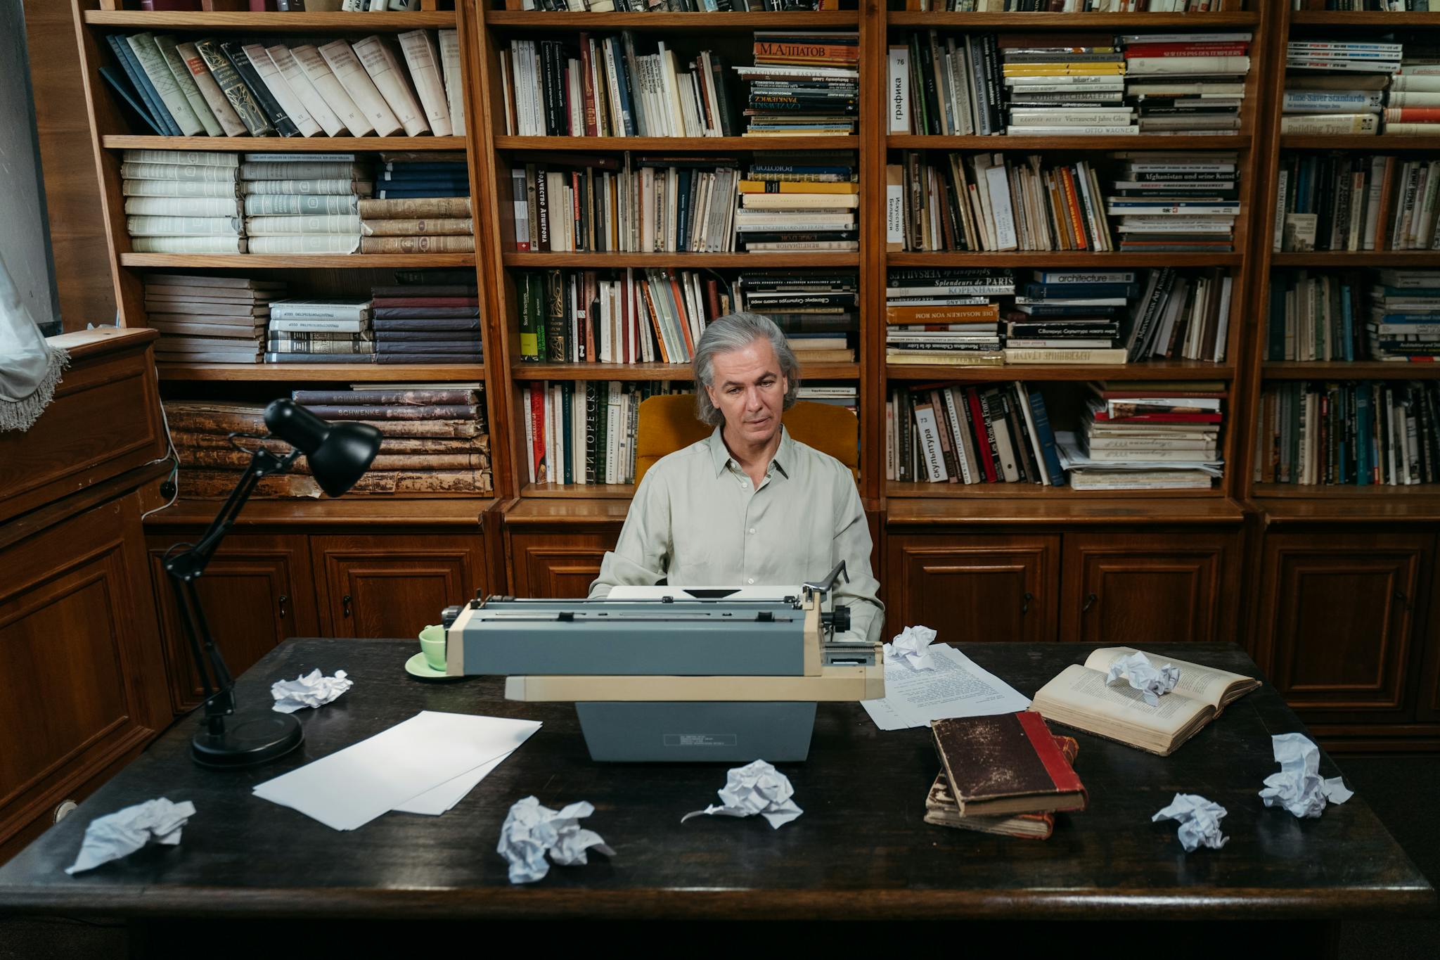
<path fill-rule="evenodd" d="M 1223 381 L 1099 381 L 1090 393 L 1080 430 L 1056 433 L 1074 489 L 1210 489 L 1221 476 Z"/>

